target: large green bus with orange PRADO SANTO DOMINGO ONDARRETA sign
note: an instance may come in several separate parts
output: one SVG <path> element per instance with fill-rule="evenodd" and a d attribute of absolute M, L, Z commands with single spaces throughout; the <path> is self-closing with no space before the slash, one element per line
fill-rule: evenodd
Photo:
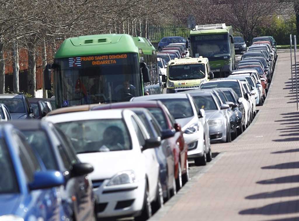
<path fill-rule="evenodd" d="M 68 38 L 57 50 L 52 69 L 57 108 L 161 93 L 156 49 L 144 37 Z"/>

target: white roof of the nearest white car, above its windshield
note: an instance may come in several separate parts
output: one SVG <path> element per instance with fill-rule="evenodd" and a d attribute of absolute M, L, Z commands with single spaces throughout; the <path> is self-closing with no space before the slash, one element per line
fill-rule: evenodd
<path fill-rule="evenodd" d="M 95 110 L 72 112 L 65 115 L 46 116 L 45 120 L 55 123 L 70 122 L 70 121 L 84 121 L 84 120 L 97 120 L 97 119 L 122 119 L 123 112 L 129 110 L 112 109 L 112 110 Z"/>

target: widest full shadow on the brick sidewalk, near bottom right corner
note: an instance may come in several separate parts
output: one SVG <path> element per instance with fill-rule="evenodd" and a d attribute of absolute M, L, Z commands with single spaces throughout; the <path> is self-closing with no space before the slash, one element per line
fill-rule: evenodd
<path fill-rule="evenodd" d="M 299 212 L 299 200 L 290 200 L 285 202 L 272 203 L 263 207 L 251 208 L 239 212 L 241 215 L 262 214 L 279 215 Z"/>

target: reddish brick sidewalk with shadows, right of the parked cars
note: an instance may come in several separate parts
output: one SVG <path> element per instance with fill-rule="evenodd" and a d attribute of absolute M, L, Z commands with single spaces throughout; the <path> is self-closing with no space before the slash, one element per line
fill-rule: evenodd
<path fill-rule="evenodd" d="M 251 126 L 234 142 L 213 145 L 217 162 L 151 220 L 299 220 L 299 112 L 290 76 L 289 53 L 279 53 Z"/>

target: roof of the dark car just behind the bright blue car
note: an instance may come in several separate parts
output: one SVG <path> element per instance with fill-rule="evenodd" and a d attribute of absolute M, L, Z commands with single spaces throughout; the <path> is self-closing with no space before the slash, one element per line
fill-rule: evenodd
<path fill-rule="evenodd" d="M 41 120 L 13 120 L 1 122 L 1 124 L 12 124 L 19 130 L 41 130 L 43 127 L 49 126 L 49 123 Z"/>

